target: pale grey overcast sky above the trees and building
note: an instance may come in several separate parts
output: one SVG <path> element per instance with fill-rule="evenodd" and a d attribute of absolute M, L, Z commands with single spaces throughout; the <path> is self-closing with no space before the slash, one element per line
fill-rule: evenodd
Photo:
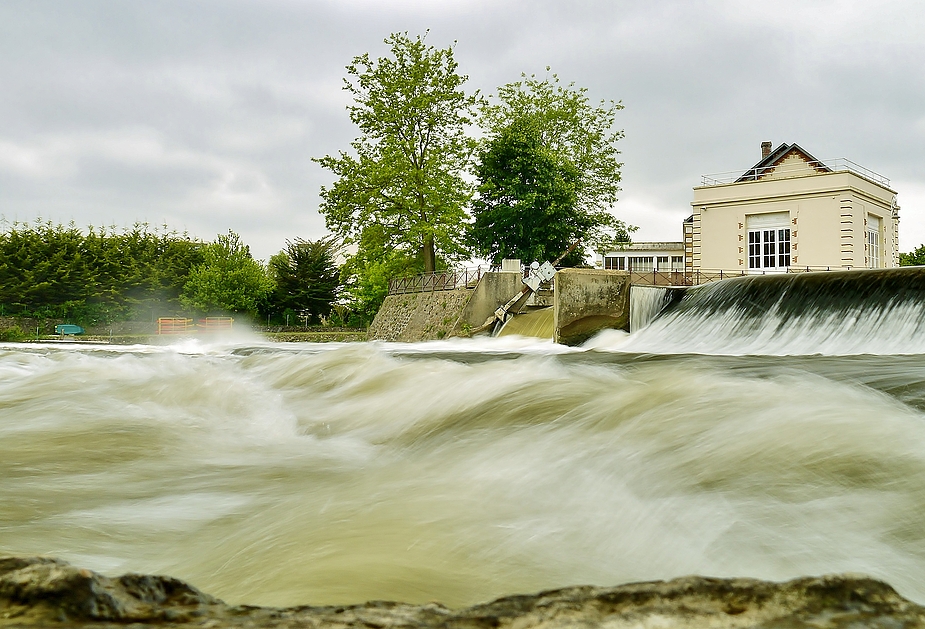
<path fill-rule="evenodd" d="M 0 0 L 0 215 L 233 229 L 262 259 L 320 237 L 344 66 L 427 29 L 472 90 L 551 66 L 623 102 L 636 240 L 680 240 L 700 176 L 770 140 L 888 177 L 900 248 L 925 242 L 921 0 Z"/>

